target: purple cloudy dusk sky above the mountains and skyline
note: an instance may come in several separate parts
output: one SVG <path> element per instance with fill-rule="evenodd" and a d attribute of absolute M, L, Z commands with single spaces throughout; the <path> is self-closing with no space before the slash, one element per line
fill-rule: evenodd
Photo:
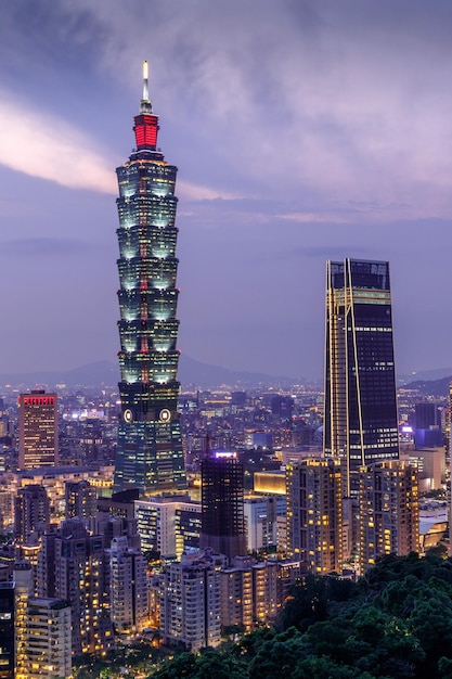
<path fill-rule="evenodd" d="M 350 256 L 390 261 L 399 372 L 452 366 L 451 33 L 449 0 L 0 0 L 0 373 L 116 360 L 144 59 L 183 354 L 320 376 Z"/>

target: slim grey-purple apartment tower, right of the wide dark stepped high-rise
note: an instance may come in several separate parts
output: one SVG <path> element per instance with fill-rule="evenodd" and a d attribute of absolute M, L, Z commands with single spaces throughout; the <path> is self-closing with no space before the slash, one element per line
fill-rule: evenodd
<path fill-rule="evenodd" d="M 147 622 L 147 562 L 129 547 L 126 537 L 114 538 L 109 549 L 112 622 L 119 633 L 141 632 Z"/>

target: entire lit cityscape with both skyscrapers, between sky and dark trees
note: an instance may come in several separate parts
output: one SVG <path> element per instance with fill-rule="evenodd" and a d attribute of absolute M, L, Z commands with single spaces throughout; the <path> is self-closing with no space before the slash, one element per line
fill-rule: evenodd
<path fill-rule="evenodd" d="M 72 655 L 150 633 L 217 646 L 271 625 L 307 574 L 354 579 L 445 531 L 419 540 L 419 488 L 443 488 L 443 450 L 409 438 L 438 443 L 440 402 L 401 399 L 399 456 L 387 262 L 327 264 L 325 394 L 179 398 L 177 168 L 157 148 L 146 66 L 133 129 L 117 169 L 119 394 L 22 394 L 16 428 L 0 402 L 0 679 L 68 678 Z"/>

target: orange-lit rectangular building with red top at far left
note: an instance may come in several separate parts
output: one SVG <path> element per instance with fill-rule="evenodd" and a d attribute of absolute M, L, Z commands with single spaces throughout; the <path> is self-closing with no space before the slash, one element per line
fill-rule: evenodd
<path fill-rule="evenodd" d="M 42 389 L 18 396 L 18 466 L 30 470 L 59 463 L 57 395 Z"/>

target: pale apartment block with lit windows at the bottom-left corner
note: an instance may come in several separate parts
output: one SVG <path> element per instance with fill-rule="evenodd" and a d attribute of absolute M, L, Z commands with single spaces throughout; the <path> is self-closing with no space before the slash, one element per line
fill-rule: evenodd
<path fill-rule="evenodd" d="M 59 599 L 29 599 L 25 629 L 27 679 L 70 679 L 70 603 Z"/>

